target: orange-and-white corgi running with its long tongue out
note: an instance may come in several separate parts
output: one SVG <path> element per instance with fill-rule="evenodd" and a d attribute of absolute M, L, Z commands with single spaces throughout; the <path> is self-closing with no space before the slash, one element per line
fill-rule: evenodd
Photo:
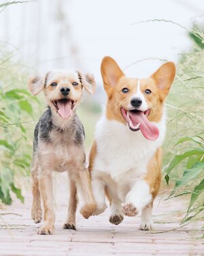
<path fill-rule="evenodd" d="M 107 94 L 96 128 L 89 171 L 98 215 L 110 201 L 109 221 L 115 225 L 141 210 L 141 230 L 152 230 L 152 205 L 161 182 L 161 145 L 165 138 L 165 99 L 175 77 L 167 62 L 148 79 L 125 76 L 116 61 L 101 63 Z"/>

